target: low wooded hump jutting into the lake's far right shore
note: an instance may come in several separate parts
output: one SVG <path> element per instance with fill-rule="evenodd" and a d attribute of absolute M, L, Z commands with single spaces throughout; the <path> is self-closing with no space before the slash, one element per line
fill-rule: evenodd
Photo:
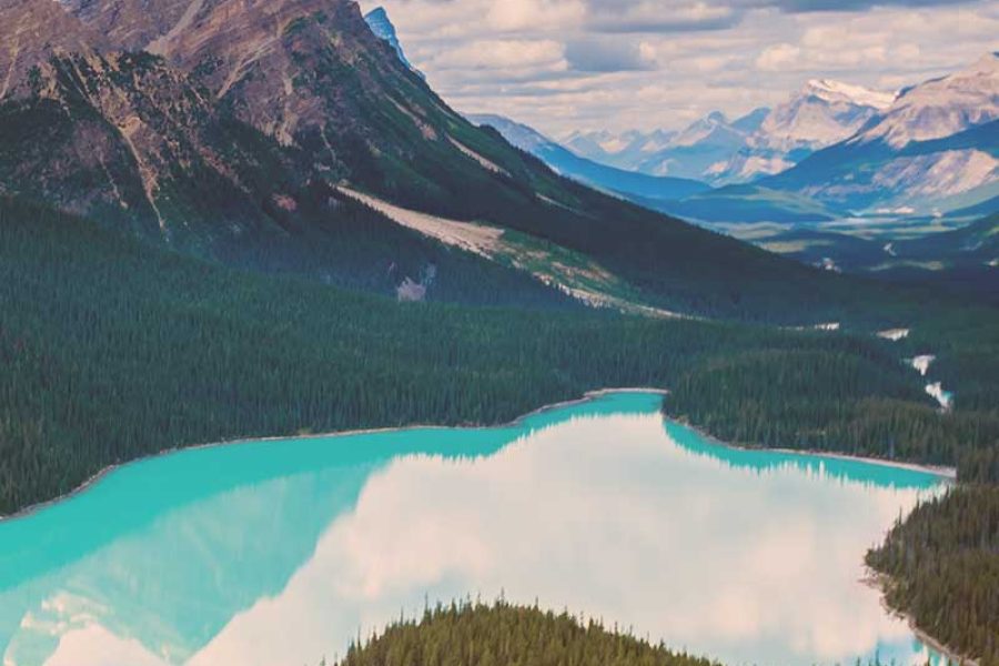
<path fill-rule="evenodd" d="M 999 413 L 941 414 L 897 366 L 829 350 L 735 351 L 674 377 L 665 410 L 727 442 L 957 466 L 962 481 L 999 482 Z"/>

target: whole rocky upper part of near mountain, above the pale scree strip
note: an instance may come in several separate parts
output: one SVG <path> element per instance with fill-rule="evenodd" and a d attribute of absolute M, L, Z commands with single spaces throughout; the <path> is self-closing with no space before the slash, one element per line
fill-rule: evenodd
<path fill-rule="evenodd" d="M 0 189 L 170 240 L 284 228 L 341 180 L 455 201 L 523 171 L 352 0 L 7 0 L 0 38 Z"/>

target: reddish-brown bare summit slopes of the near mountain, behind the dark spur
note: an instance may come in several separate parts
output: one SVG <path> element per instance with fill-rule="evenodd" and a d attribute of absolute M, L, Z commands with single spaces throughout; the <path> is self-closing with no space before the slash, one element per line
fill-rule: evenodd
<path fill-rule="evenodd" d="M 162 56 L 284 145 L 302 129 L 327 140 L 342 133 L 351 95 L 383 95 L 386 78 L 406 75 L 350 0 L 70 0 L 67 8 L 110 48 Z"/>

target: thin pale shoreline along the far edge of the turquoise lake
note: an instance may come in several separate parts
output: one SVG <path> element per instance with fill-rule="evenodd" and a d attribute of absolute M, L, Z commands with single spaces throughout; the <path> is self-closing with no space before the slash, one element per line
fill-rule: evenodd
<path fill-rule="evenodd" d="M 10 515 L 0 516 L 0 525 L 3 525 L 4 523 L 13 522 L 13 521 L 28 518 L 37 513 L 44 511 L 46 508 L 52 507 L 52 506 L 60 504 L 62 502 L 65 502 L 68 500 L 72 500 L 77 495 L 85 493 L 87 491 L 92 488 L 94 485 L 100 483 L 109 474 L 112 474 L 122 467 L 148 462 L 148 461 L 151 461 L 151 460 L 154 460 L 158 457 L 163 457 L 163 456 L 173 455 L 176 453 L 182 453 L 185 451 L 200 451 L 200 450 L 205 450 L 205 448 L 218 448 L 218 447 L 223 447 L 223 446 L 239 446 L 241 444 L 256 444 L 256 443 L 264 443 L 264 442 L 283 442 L 283 441 L 291 441 L 291 440 L 326 440 L 326 438 L 333 438 L 333 437 L 339 438 L 339 437 L 349 437 L 349 436 L 353 436 L 353 435 L 371 435 L 371 434 L 387 433 L 387 432 L 410 432 L 410 431 L 416 431 L 416 430 L 476 431 L 476 430 L 495 430 L 495 428 L 502 428 L 502 427 L 513 427 L 513 426 L 519 425 L 521 423 L 523 423 L 527 418 L 531 418 L 532 416 L 537 416 L 538 414 L 544 414 L 546 412 L 552 412 L 554 410 L 561 410 L 564 407 L 572 407 L 575 405 L 585 404 L 587 402 L 597 400 L 599 397 L 604 397 L 607 395 L 614 395 L 616 393 L 650 393 L 650 394 L 655 394 L 655 395 L 665 396 L 665 395 L 669 395 L 669 390 L 668 389 L 655 389 L 655 387 L 650 387 L 650 386 L 633 386 L 633 387 L 622 387 L 622 389 L 595 389 L 593 391 L 585 392 L 579 397 L 542 405 L 541 407 L 537 407 L 536 410 L 532 410 L 531 412 L 521 414 L 513 421 L 497 423 L 495 425 L 483 425 L 483 424 L 440 425 L 440 424 L 413 423 L 410 425 L 394 426 L 394 427 L 386 426 L 386 427 L 353 428 L 353 430 L 344 430 L 344 431 L 332 431 L 332 432 L 327 432 L 327 433 L 310 433 L 310 434 L 305 434 L 305 435 L 272 435 L 272 436 L 265 436 L 265 437 L 234 437 L 232 440 L 222 440 L 219 442 L 209 442 L 205 444 L 193 444 L 191 446 L 174 446 L 171 448 L 164 448 L 157 453 L 151 453 L 151 454 L 143 455 L 143 456 L 140 456 L 137 458 L 132 458 L 132 460 L 123 462 L 123 463 L 114 463 L 112 465 L 108 465 L 108 466 L 101 468 L 99 472 L 97 472 L 92 476 L 90 476 L 87 481 L 84 481 L 82 484 L 80 484 L 72 491 L 63 493 L 62 495 L 59 495 L 58 497 L 53 497 L 52 500 L 47 500 L 44 502 L 39 502 L 37 504 L 26 506 L 24 508 L 16 512 L 16 513 L 12 513 Z M 665 418 L 669 418 L 670 421 L 683 425 L 684 427 L 688 427 L 688 428 L 693 430 L 698 435 L 700 435 L 705 440 L 708 440 L 713 444 L 716 444 L 718 446 L 725 446 L 728 448 L 734 448 L 737 451 L 774 452 L 774 453 L 785 453 L 785 454 L 791 454 L 791 455 L 810 455 L 810 456 L 815 456 L 815 457 L 828 457 L 828 458 L 845 460 L 845 461 L 856 461 L 856 462 L 861 462 L 861 463 L 882 465 L 882 466 L 896 467 L 896 468 L 901 468 L 901 470 L 926 472 L 926 473 L 934 474 L 936 476 L 946 478 L 950 482 L 957 481 L 957 470 L 955 470 L 953 467 L 939 467 L 939 466 L 931 466 L 931 465 L 920 465 L 917 463 L 894 462 L 894 461 L 886 461 L 886 460 L 881 460 L 881 458 L 850 455 L 850 454 L 845 454 L 845 453 L 825 452 L 825 451 L 796 451 L 793 448 L 766 448 L 766 447 L 744 446 L 740 444 L 735 444 L 735 443 L 730 443 L 730 442 L 725 442 L 724 440 L 719 440 L 718 437 L 702 430 L 700 427 L 697 427 L 693 424 L 684 423 L 682 421 L 677 421 L 676 418 L 673 418 L 665 412 L 660 411 L 659 414 L 662 414 L 663 417 L 665 417 Z"/>

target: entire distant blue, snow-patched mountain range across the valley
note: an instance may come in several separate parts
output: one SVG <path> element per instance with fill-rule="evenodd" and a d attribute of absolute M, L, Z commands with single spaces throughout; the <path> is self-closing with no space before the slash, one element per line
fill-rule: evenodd
<path fill-rule="evenodd" d="M 544 149 L 523 148 L 567 175 L 708 222 L 972 215 L 999 209 L 997 120 L 999 54 L 987 53 L 898 94 L 813 80 L 785 103 L 731 121 L 714 112 L 682 132 L 573 132 L 562 145 L 545 139 Z M 677 201 L 673 190 L 610 188 L 592 168 L 589 176 L 574 175 L 564 149 L 587 164 L 716 189 Z"/>

